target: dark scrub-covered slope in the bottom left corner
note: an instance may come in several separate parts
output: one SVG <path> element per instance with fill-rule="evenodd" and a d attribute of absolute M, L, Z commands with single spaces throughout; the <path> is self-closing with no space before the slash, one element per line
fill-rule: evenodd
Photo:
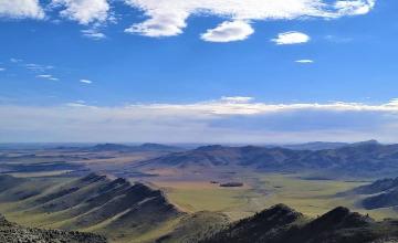
<path fill-rule="evenodd" d="M 0 242 L 3 243 L 36 243 L 36 242 L 67 242 L 67 243 L 106 243 L 106 239 L 92 233 L 66 232 L 60 230 L 41 230 L 23 228 L 7 221 L 0 215 Z"/>

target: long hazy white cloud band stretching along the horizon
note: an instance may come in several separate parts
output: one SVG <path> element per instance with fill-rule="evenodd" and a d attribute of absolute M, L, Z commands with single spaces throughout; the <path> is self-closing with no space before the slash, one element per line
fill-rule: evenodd
<path fill-rule="evenodd" d="M 0 140 L 8 142 L 36 138 L 240 144 L 369 138 L 398 141 L 397 99 L 385 104 L 268 104 L 238 96 L 119 107 L 76 101 L 45 107 L 0 105 Z"/>

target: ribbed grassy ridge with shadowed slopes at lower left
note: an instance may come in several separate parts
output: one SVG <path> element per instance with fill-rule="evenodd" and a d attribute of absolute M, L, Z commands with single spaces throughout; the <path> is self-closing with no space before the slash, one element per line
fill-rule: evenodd
<path fill-rule="evenodd" d="M 0 192 L 0 202 L 12 201 L 18 202 L 14 211 L 41 215 L 22 219 L 31 225 L 57 222 L 57 229 L 91 231 L 109 240 L 156 231 L 185 215 L 159 190 L 96 173 L 55 186 L 51 180 L 15 181 Z"/>

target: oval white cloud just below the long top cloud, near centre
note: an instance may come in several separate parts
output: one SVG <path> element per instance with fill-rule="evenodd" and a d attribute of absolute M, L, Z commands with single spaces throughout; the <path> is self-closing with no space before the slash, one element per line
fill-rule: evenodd
<path fill-rule="evenodd" d="M 254 33 L 253 28 L 245 21 L 226 21 L 214 29 L 208 30 L 201 35 L 208 42 L 243 41 Z"/>

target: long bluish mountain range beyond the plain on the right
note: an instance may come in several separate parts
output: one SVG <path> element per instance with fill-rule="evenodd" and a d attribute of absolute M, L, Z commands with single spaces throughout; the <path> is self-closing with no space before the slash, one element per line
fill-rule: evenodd
<path fill-rule="evenodd" d="M 214 145 L 172 152 L 143 161 L 140 166 L 181 169 L 233 166 L 264 171 L 322 170 L 338 175 L 375 177 L 398 172 L 398 145 L 380 145 L 371 140 L 324 150 Z"/>

